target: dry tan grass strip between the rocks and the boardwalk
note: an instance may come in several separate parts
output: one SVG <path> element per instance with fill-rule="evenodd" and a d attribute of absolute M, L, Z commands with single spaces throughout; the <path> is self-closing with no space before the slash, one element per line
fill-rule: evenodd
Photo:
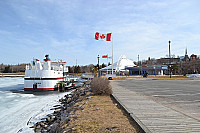
<path fill-rule="evenodd" d="M 110 96 L 92 96 L 83 110 L 76 111 L 66 126 L 66 131 L 72 132 L 126 132 L 136 133 L 136 129 L 130 124 L 128 118 L 117 108 Z M 80 104 L 80 103 L 79 103 Z M 78 105 L 76 105 L 78 106 Z"/>

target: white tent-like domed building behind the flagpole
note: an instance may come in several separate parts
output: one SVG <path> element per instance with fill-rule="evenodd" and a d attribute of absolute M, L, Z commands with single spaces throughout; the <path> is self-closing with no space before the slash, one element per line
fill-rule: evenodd
<path fill-rule="evenodd" d="M 113 64 L 113 72 L 118 74 L 128 74 L 129 70 L 126 70 L 125 67 L 134 67 L 136 66 L 132 60 L 127 59 L 125 55 L 121 55 L 117 62 Z M 112 73 L 112 65 L 109 65 L 107 67 L 104 67 L 100 69 L 101 75 L 104 75 L 106 73 L 111 74 Z"/>

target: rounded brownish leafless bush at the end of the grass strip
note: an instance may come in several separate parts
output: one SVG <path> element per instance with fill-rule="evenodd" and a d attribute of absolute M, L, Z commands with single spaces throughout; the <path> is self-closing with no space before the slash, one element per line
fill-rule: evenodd
<path fill-rule="evenodd" d="M 112 88 L 109 83 L 107 79 L 96 77 L 91 81 L 91 91 L 94 95 L 111 95 Z"/>

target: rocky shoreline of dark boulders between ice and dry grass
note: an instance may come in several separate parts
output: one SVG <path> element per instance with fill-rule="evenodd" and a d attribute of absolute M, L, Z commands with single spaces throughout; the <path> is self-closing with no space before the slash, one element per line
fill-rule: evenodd
<path fill-rule="evenodd" d="M 60 104 L 53 106 L 52 114 L 48 114 L 45 118 L 41 119 L 31 128 L 34 128 L 36 133 L 55 133 L 55 132 L 71 132 L 73 129 L 65 130 L 65 125 L 74 119 L 72 114 L 77 110 L 83 110 L 86 103 L 76 105 L 77 102 L 83 99 L 91 99 L 91 89 L 89 87 L 80 87 L 72 90 L 70 94 L 65 95 L 59 99 Z"/>

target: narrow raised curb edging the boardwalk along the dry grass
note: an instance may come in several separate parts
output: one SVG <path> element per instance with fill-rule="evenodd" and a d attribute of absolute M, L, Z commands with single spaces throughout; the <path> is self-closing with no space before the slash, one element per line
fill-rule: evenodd
<path fill-rule="evenodd" d="M 111 97 L 120 105 L 120 107 L 130 116 L 130 118 L 136 123 L 136 125 L 144 132 L 144 133 L 152 133 L 129 109 L 122 104 L 122 102 L 112 94 Z"/>

